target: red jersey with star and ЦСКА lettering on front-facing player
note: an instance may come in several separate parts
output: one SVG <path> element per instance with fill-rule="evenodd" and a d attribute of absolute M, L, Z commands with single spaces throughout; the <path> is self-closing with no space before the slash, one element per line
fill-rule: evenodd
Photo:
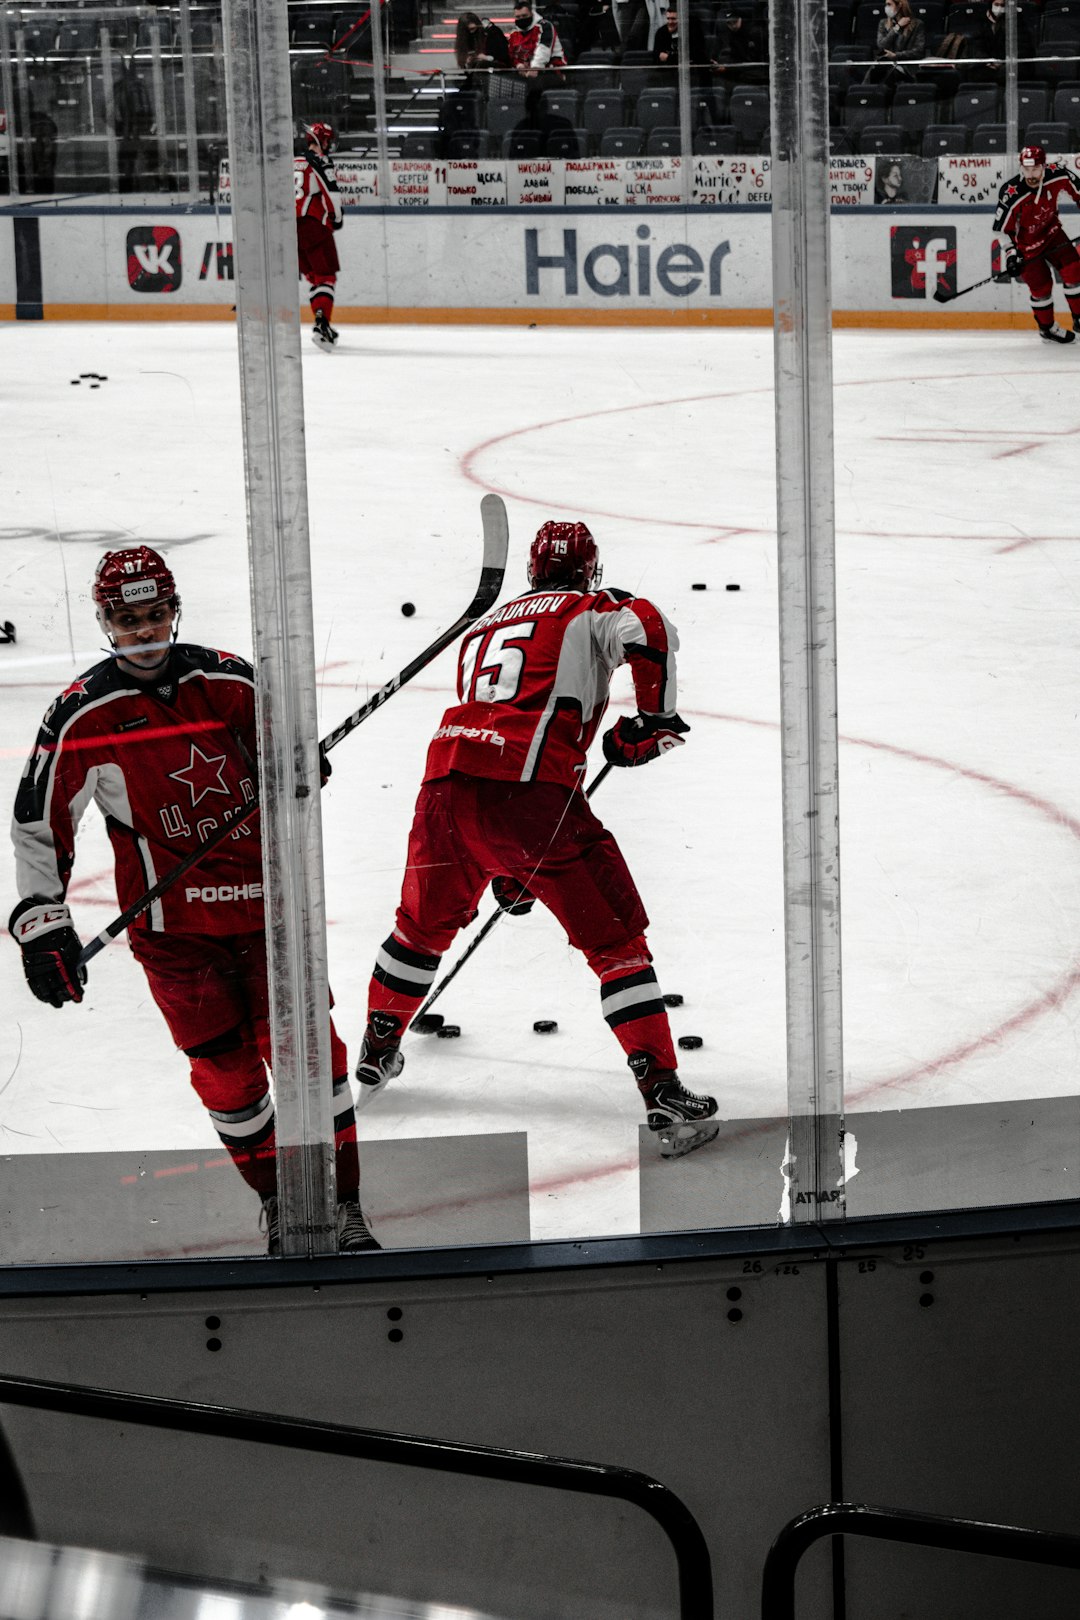
<path fill-rule="evenodd" d="M 79 818 L 94 800 L 126 910 L 257 792 L 254 674 L 232 653 L 178 645 L 160 682 L 96 664 L 47 711 L 15 800 L 19 899 L 62 901 Z M 262 927 L 257 815 L 134 923 L 155 933 Z"/>

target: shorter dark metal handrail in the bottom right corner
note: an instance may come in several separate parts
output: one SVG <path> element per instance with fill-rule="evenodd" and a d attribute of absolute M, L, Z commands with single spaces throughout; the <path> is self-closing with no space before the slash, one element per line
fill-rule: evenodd
<path fill-rule="evenodd" d="M 795 1570 L 806 1549 L 823 1536 L 874 1536 L 915 1547 L 981 1552 L 991 1558 L 1080 1570 L 1080 1536 L 908 1513 L 904 1508 L 873 1508 L 865 1502 L 829 1502 L 790 1520 L 769 1547 L 761 1578 L 761 1620 L 795 1620 Z"/>

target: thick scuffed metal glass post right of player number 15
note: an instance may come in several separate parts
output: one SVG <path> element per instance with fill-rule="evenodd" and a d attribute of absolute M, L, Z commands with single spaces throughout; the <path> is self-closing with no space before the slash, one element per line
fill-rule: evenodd
<path fill-rule="evenodd" d="M 826 0 L 772 0 L 772 298 L 792 1220 L 844 1210 Z"/>

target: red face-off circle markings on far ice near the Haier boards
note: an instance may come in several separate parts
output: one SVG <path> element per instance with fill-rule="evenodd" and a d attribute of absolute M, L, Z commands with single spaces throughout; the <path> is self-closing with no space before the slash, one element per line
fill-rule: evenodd
<path fill-rule="evenodd" d="M 834 382 L 834 390 L 836 389 L 889 387 L 889 386 L 910 384 L 910 382 L 952 382 L 952 381 L 955 381 L 955 382 L 975 382 L 980 377 L 1001 379 L 1001 377 L 1046 377 L 1046 376 L 1049 376 L 1049 369 L 1048 368 L 1007 371 L 1007 373 L 1002 373 L 1002 371 L 965 371 L 965 373 L 944 371 L 944 373 L 933 373 L 931 371 L 931 373 L 926 373 L 926 374 L 904 376 L 904 377 L 900 377 L 900 376 L 892 376 L 892 377 L 850 377 L 850 379 L 847 379 L 844 382 Z M 602 507 L 586 505 L 586 504 L 578 502 L 578 501 L 572 501 L 568 504 L 567 499 L 565 499 L 565 494 L 560 494 L 559 497 L 554 497 L 554 499 L 551 496 L 525 494 L 520 489 L 508 489 L 508 488 L 505 488 L 505 484 L 492 483 L 489 478 L 484 478 L 479 473 L 479 470 L 478 470 L 479 458 L 487 450 L 494 450 L 495 446 L 499 446 L 499 444 L 508 444 L 513 439 L 523 439 L 523 437 L 526 437 L 529 434 L 547 433 L 552 428 L 570 428 L 570 426 L 575 426 L 576 423 L 599 421 L 599 420 L 602 420 L 606 416 L 623 416 L 623 415 L 628 415 L 631 411 L 672 410 L 672 408 L 677 408 L 680 405 L 708 405 L 708 403 L 712 403 L 714 400 L 742 400 L 742 399 L 746 399 L 748 395 L 753 395 L 753 394 L 771 395 L 772 392 L 774 392 L 772 390 L 772 384 L 763 384 L 761 387 L 748 387 L 748 389 L 717 389 L 717 390 L 709 392 L 709 394 L 685 394 L 685 395 L 680 395 L 677 399 L 667 399 L 667 400 L 664 400 L 664 399 L 633 400 L 630 405 L 607 405 L 607 407 L 601 407 L 601 408 L 596 408 L 596 410 L 580 411 L 580 413 L 576 413 L 573 416 L 552 416 L 549 421 L 525 423 L 521 428 L 510 428 L 507 433 L 492 434 L 491 439 L 481 439 L 479 444 L 471 446 L 471 449 L 468 449 L 468 450 L 465 450 L 461 454 L 458 465 L 460 465 L 461 473 L 465 475 L 465 478 L 468 478 L 470 483 L 478 484 L 481 489 L 486 489 L 486 491 L 491 491 L 492 494 L 502 496 L 505 501 L 518 501 L 523 505 L 544 507 L 549 512 L 575 512 L 580 517 L 585 515 L 585 517 L 591 517 L 591 518 L 609 518 L 609 520 L 619 522 L 619 523 L 651 523 L 651 525 L 657 525 L 657 526 L 662 526 L 662 528 L 695 528 L 695 530 L 704 531 L 704 538 L 699 541 L 699 544 L 716 544 L 719 541 L 733 539 L 737 535 L 774 535 L 776 533 L 774 528 L 761 528 L 761 526 L 753 525 L 753 523 L 751 525 L 746 525 L 746 523 L 699 523 L 699 522 L 695 522 L 691 518 L 649 517 L 648 514 L 641 514 L 641 512 L 607 512 Z M 981 442 L 981 441 L 993 441 L 996 444 L 1001 444 L 999 450 L 991 457 L 991 460 L 1001 460 L 1004 457 L 1022 455 L 1027 450 L 1038 449 L 1046 439 L 1074 437 L 1075 434 L 1080 433 L 1080 428 L 1056 428 L 1056 429 L 1046 429 L 1046 431 L 1031 429 L 1027 434 L 1023 434 L 1023 433 L 1007 433 L 1007 431 L 994 429 L 994 428 L 973 428 L 970 431 L 967 431 L 967 429 L 963 429 L 963 431 L 962 429 L 949 429 L 949 431 L 957 433 L 957 441 L 955 442 L 960 442 L 960 444 L 972 444 L 972 442 Z M 933 442 L 939 442 L 939 441 L 941 441 L 941 431 L 938 431 L 934 434 L 934 441 Z M 912 436 L 908 436 L 908 442 L 913 442 Z M 842 533 L 857 533 L 857 535 L 860 535 L 865 539 L 907 539 L 907 538 L 910 538 L 910 531 L 908 530 L 870 530 L 870 528 L 860 528 L 860 530 L 842 530 Z M 989 543 L 989 544 L 993 544 L 993 543 L 1001 544 L 1004 541 L 1004 544 L 1001 544 L 1002 551 L 1017 551 L 1022 546 L 1028 546 L 1028 544 L 1033 544 L 1036 541 L 1044 541 L 1044 539 L 1075 539 L 1077 536 L 1075 535 L 1018 535 L 1017 530 L 1015 530 L 1015 526 L 1014 526 L 1014 528 L 1010 528 L 1010 530 L 1007 530 L 1007 531 L 1004 531 L 1001 535 L 955 535 L 955 533 L 926 533 L 926 531 L 920 531 L 920 535 L 916 538 L 920 538 L 920 539 L 983 541 L 983 543 Z"/>

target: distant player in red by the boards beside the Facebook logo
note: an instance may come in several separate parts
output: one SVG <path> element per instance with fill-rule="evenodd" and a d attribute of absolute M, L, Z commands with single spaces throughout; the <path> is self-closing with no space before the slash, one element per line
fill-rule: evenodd
<path fill-rule="evenodd" d="M 1041 146 L 1025 146 L 1020 173 L 997 193 L 994 232 L 1012 241 L 999 280 L 1020 277 L 1031 295 L 1031 314 L 1048 343 L 1072 343 L 1080 321 L 1080 254 L 1065 235 L 1057 209 L 1072 198 L 1080 204 L 1080 177 L 1064 164 L 1048 164 Z M 1054 277 L 1061 274 L 1072 329 L 1054 321 Z"/>

